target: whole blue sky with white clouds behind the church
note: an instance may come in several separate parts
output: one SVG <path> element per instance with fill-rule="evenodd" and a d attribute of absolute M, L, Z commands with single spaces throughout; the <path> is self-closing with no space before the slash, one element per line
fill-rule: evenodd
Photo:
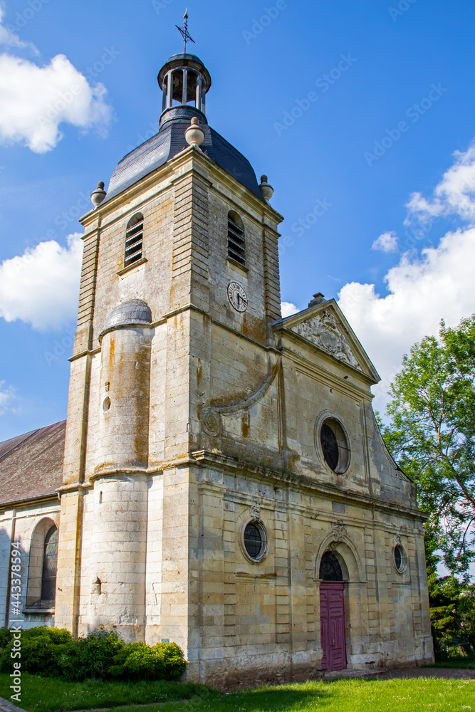
<path fill-rule="evenodd" d="M 282 299 L 340 300 L 383 377 L 382 407 L 412 342 L 475 311 L 475 6 L 188 5 L 209 123 L 268 174 L 285 216 Z M 157 73 L 182 49 L 184 6 L 1 9 L 0 440 L 66 417 L 71 235 L 98 180 L 157 131 Z"/>

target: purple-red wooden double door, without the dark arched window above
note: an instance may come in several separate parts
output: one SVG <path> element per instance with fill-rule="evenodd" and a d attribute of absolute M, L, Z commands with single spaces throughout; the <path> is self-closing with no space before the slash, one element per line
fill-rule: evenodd
<path fill-rule="evenodd" d="M 345 584 L 340 581 L 320 583 L 323 670 L 343 670 L 346 667 L 344 588 Z"/>

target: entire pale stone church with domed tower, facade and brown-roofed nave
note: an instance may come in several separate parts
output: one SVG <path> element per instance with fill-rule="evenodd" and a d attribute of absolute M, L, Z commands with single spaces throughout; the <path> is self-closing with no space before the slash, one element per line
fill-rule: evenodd
<path fill-rule="evenodd" d="M 267 177 L 193 54 L 83 216 L 68 416 L 0 443 L 0 615 L 177 642 L 221 686 L 432 661 L 424 515 L 335 300 L 281 317 Z M 278 202 L 278 201 L 276 201 Z"/>

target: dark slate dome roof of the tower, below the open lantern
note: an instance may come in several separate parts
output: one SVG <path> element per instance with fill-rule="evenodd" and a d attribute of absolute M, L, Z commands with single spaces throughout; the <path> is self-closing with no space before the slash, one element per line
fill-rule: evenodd
<path fill-rule="evenodd" d="M 184 132 L 189 124 L 189 117 L 163 122 L 155 136 L 122 158 L 112 174 L 107 197 L 101 206 L 187 148 Z M 204 131 L 202 151 L 263 201 L 256 174 L 248 159 L 209 125 L 201 123 L 201 128 Z"/>

